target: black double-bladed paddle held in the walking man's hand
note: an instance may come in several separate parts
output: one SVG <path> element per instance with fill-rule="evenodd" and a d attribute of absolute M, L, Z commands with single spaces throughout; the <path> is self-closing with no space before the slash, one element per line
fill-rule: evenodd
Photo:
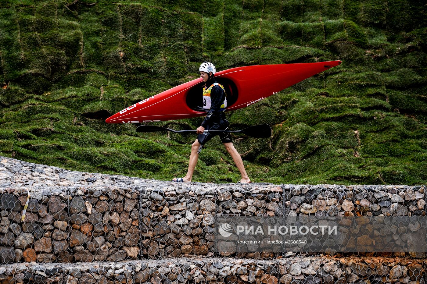
<path fill-rule="evenodd" d="M 188 129 L 188 130 L 173 130 L 170 128 L 165 128 L 161 126 L 155 125 L 140 125 L 136 128 L 137 132 L 155 132 L 155 131 L 172 131 L 175 133 L 182 132 L 196 132 L 197 130 Z M 205 130 L 205 132 L 232 132 L 232 133 L 243 133 L 247 136 L 251 136 L 254 138 L 269 138 L 271 136 L 271 127 L 268 124 L 260 124 L 249 126 L 242 130 Z"/>

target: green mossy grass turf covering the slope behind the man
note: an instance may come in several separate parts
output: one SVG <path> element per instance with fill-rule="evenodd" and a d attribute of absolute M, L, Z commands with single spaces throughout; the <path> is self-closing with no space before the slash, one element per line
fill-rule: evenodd
<path fill-rule="evenodd" d="M 422 1 L 49 2 L 0 9 L 0 155 L 78 171 L 170 180 L 195 136 L 107 125 L 123 108 L 197 76 L 252 64 L 339 67 L 228 114 L 256 182 L 426 184 L 426 6 Z M 386 9 L 384 9 L 386 7 Z M 260 82 L 262 84 L 262 82 Z M 197 128 L 202 118 L 156 123 Z M 239 180 L 216 137 L 195 181 Z"/>

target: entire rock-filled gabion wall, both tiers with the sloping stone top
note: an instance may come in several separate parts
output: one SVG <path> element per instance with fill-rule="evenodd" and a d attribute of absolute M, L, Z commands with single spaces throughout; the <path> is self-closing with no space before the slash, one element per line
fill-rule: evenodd
<path fill-rule="evenodd" d="M 0 159 L 2 281 L 425 283 L 425 252 L 213 246 L 221 216 L 425 216 L 426 186 L 184 184 Z"/>

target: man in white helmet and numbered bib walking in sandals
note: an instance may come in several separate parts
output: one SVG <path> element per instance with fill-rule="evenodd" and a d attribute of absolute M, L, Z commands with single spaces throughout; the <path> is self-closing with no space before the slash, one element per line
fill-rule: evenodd
<path fill-rule="evenodd" d="M 197 160 L 199 159 L 199 153 L 202 150 L 203 145 L 212 139 L 213 134 L 211 132 L 205 133 L 205 130 L 227 130 L 228 121 L 225 119 L 225 108 L 227 107 L 227 98 L 225 95 L 224 87 L 217 83 L 213 78 L 216 69 L 215 66 L 210 62 L 204 62 L 199 67 L 200 77 L 205 82 L 203 88 L 203 108 L 207 115 L 203 120 L 202 124 L 197 128 L 197 139 L 191 145 L 190 161 L 188 164 L 188 171 L 184 177 L 174 178 L 173 181 L 189 183 L 193 177 L 194 168 L 196 168 Z M 234 163 L 240 171 L 242 176 L 238 183 L 250 183 L 251 180 L 246 173 L 245 166 L 243 165 L 242 158 L 234 148 L 233 141 L 231 140 L 231 134 L 227 132 L 219 133 L 219 138 L 224 144 L 228 154 L 233 158 Z"/>

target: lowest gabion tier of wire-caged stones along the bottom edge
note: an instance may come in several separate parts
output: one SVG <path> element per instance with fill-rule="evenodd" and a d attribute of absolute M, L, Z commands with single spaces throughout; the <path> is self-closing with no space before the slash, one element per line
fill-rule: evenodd
<path fill-rule="evenodd" d="M 290 257 L 274 260 L 170 258 L 0 267 L 2 283 L 404 283 L 424 284 L 425 260 Z M 424 268 L 423 268 L 424 267 Z"/>

